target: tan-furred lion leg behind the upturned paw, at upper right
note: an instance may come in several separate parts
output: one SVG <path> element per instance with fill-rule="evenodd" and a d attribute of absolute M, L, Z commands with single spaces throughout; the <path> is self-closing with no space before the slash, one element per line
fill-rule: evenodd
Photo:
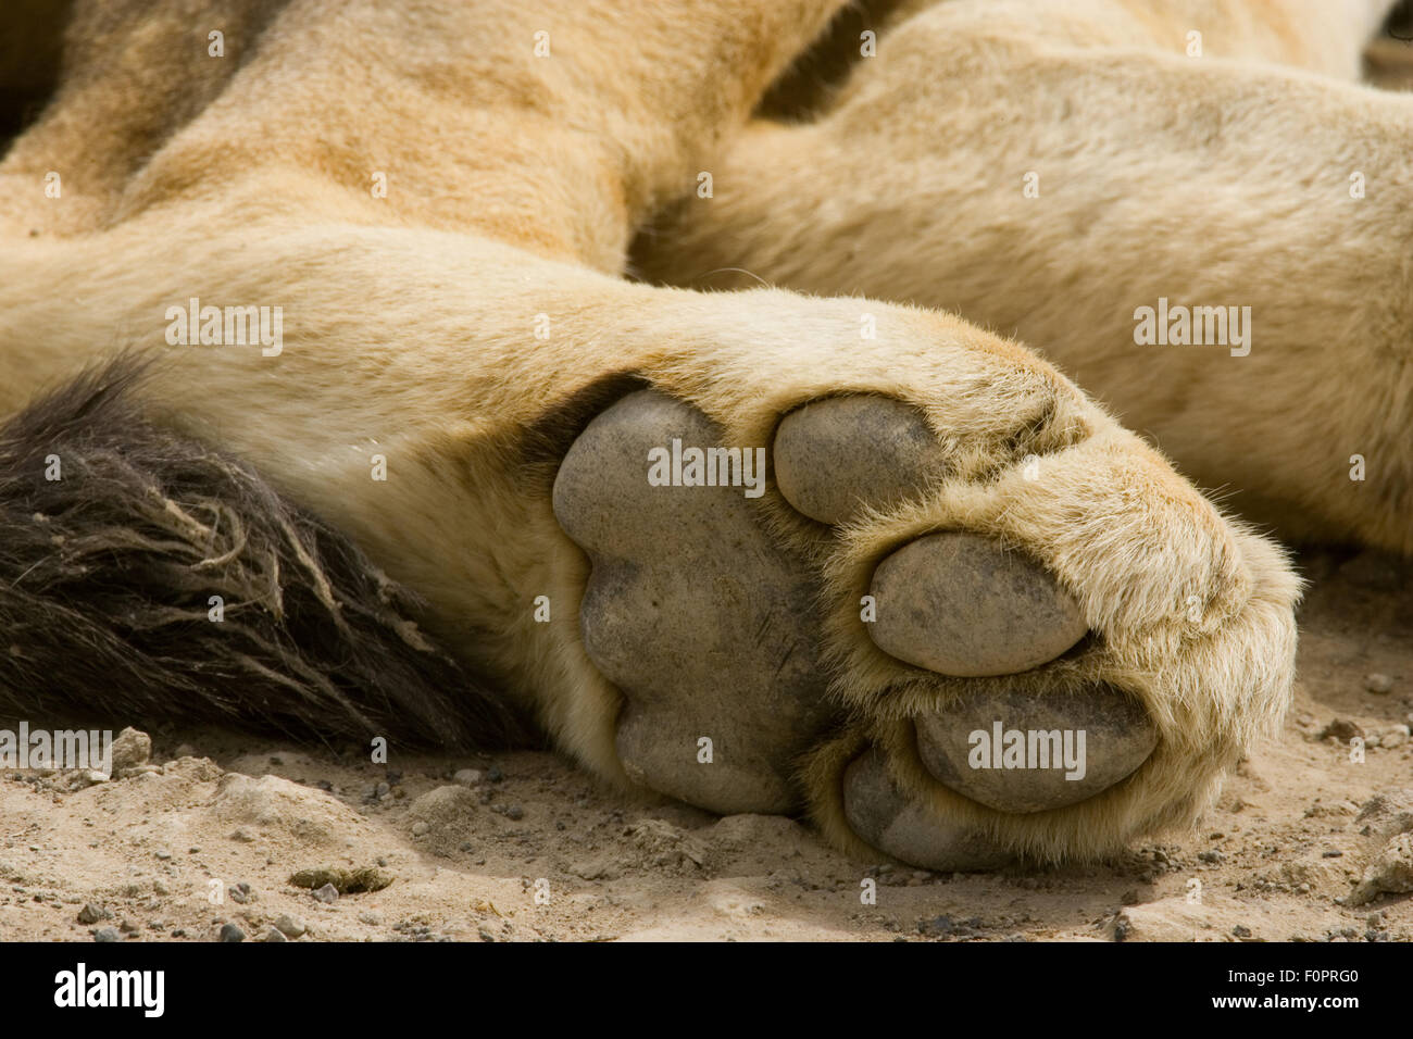
<path fill-rule="evenodd" d="M 1410 553 L 1413 98 L 1334 78 L 1389 7 L 910 4 L 818 122 L 742 134 L 639 266 L 955 311 L 1245 515 Z M 1249 305 L 1251 355 L 1136 345 L 1159 297 Z"/>

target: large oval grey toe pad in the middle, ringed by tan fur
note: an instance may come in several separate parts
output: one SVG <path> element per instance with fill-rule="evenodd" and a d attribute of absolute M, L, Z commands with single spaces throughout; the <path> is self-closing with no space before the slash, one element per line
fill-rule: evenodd
<path fill-rule="evenodd" d="M 941 674 L 1016 674 L 1085 633 L 1078 604 L 1037 563 L 976 534 L 910 541 L 877 565 L 870 592 L 875 645 Z"/>

